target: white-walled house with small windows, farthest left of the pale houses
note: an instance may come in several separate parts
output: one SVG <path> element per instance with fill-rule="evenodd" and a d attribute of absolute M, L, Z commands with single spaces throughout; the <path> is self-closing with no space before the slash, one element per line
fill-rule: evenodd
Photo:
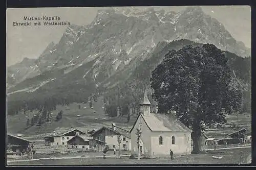
<path fill-rule="evenodd" d="M 55 133 L 53 132 L 52 136 L 46 136 L 45 145 L 52 146 L 52 145 L 67 145 L 67 141 L 73 138 L 76 135 L 86 135 L 85 132 L 82 132 L 78 129 L 71 129 L 67 132 Z"/>

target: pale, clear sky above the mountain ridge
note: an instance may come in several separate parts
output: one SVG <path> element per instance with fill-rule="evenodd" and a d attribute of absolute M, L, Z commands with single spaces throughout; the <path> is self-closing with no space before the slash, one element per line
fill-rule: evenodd
<path fill-rule="evenodd" d="M 65 7 L 65 8 L 13 8 L 7 9 L 7 66 L 21 62 L 25 57 L 38 58 L 50 42 L 58 43 L 66 26 L 13 26 L 13 22 L 23 22 L 24 16 L 59 16 L 61 21 L 74 25 L 88 25 L 97 11 L 104 7 Z M 115 7 L 132 8 L 132 7 Z M 133 7 L 145 9 L 151 7 Z M 154 7 L 155 10 L 179 12 L 186 6 Z M 203 11 L 221 22 L 237 41 L 251 47 L 250 6 L 201 6 Z"/>

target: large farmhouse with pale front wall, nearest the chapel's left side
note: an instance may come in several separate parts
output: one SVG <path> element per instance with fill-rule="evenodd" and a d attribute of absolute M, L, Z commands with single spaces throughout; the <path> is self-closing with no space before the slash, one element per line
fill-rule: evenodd
<path fill-rule="evenodd" d="M 120 150 L 122 151 L 131 151 L 131 133 L 129 130 L 126 130 L 121 127 L 117 127 L 115 124 L 112 124 L 112 127 L 102 126 L 100 129 L 96 130 L 90 136 L 93 139 L 103 141 L 108 145 L 110 150 L 118 150 L 118 136 L 120 136 Z"/>

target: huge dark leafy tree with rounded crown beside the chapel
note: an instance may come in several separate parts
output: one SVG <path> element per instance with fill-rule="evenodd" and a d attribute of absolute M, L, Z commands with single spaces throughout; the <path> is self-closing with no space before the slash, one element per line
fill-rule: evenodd
<path fill-rule="evenodd" d="M 152 72 L 153 99 L 159 113 L 176 116 L 193 132 L 193 153 L 207 126 L 225 123 L 225 114 L 239 110 L 242 92 L 230 86 L 228 59 L 215 45 L 187 45 L 169 51 Z"/>

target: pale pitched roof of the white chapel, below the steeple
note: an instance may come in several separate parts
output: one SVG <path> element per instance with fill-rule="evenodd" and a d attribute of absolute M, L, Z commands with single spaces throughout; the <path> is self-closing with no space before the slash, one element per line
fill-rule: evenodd
<path fill-rule="evenodd" d="M 147 127 L 154 132 L 191 132 L 189 128 L 182 124 L 180 120 L 172 114 L 151 113 L 150 115 L 146 116 L 143 114 L 139 115 L 141 115 L 141 117 L 144 119 Z M 137 117 L 134 126 L 137 123 L 138 118 L 139 116 Z M 131 131 L 133 130 L 133 128 L 131 129 Z"/>

